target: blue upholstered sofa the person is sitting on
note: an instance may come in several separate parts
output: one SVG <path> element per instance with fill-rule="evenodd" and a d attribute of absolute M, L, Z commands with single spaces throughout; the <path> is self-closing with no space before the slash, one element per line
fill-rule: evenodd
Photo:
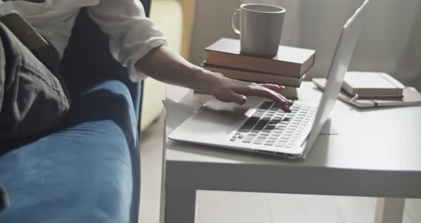
<path fill-rule="evenodd" d="M 143 1 L 148 14 L 149 1 Z M 141 83 L 82 10 L 61 64 L 73 109 L 41 139 L 0 144 L 0 222 L 138 222 Z"/>

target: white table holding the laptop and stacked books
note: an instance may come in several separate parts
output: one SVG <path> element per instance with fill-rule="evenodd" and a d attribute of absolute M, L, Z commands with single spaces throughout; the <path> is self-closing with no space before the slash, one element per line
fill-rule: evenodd
<path fill-rule="evenodd" d="M 300 100 L 321 95 L 303 82 Z M 402 222 L 405 198 L 421 198 L 421 106 L 361 110 L 338 101 L 330 126 L 339 134 L 320 135 L 304 161 L 167 138 L 161 222 L 193 223 L 199 189 L 380 197 L 375 222 Z M 166 134 L 172 129 L 167 122 Z"/>

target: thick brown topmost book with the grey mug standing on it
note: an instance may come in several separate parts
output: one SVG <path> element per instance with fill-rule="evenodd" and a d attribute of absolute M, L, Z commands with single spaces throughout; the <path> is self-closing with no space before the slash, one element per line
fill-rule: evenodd
<path fill-rule="evenodd" d="M 315 50 L 279 46 L 275 56 L 255 56 L 240 51 L 240 40 L 222 38 L 206 47 L 206 63 L 270 74 L 300 77 L 315 61 Z"/>

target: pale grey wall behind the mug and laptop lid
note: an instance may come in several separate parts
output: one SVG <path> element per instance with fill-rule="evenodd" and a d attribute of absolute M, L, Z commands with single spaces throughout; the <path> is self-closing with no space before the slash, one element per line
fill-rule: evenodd
<path fill-rule="evenodd" d="M 197 0 L 191 61 L 201 64 L 203 48 L 220 37 L 238 37 L 228 18 L 241 3 L 287 9 L 281 44 L 315 49 L 308 77 L 328 73 L 340 29 L 362 0 Z M 421 89 L 421 0 L 372 0 L 350 70 L 385 71 Z"/>

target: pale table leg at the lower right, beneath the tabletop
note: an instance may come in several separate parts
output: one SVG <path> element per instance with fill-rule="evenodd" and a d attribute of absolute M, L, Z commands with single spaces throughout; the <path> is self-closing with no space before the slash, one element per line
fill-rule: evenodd
<path fill-rule="evenodd" d="M 375 223 L 402 223 L 405 198 L 377 197 Z"/>

